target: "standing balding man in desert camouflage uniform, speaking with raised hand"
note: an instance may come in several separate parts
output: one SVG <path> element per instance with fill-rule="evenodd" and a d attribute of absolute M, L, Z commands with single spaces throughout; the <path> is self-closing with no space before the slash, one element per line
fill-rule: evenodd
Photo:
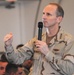
<path fill-rule="evenodd" d="M 13 49 L 13 35 L 4 37 L 7 59 L 11 63 L 22 64 L 33 58 L 33 66 L 29 75 L 72 75 L 74 63 L 68 59 L 73 46 L 73 37 L 59 26 L 64 11 L 57 3 L 50 3 L 43 10 L 42 22 L 46 32 L 42 40 L 35 37 L 18 51 Z M 74 59 L 73 59 L 74 61 Z"/>

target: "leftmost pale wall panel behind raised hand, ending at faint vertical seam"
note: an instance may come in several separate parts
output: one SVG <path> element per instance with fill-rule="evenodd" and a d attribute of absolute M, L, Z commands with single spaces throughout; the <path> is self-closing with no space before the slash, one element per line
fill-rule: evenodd
<path fill-rule="evenodd" d="M 16 41 L 14 45 L 20 42 L 20 17 L 18 11 L 18 5 L 16 5 L 15 9 L 6 9 L 4 6 L 0 6 L 0 51 L 4 50 L 3 38 L 7 33 L 13 33 L 14 41 Z"/>

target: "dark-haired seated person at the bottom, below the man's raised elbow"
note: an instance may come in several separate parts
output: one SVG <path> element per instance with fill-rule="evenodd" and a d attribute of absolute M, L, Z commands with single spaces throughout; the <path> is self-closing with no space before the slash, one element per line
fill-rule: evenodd
<path fill-rule="evenodd" d="M 26 75 L 22 66 L 16 64 L 7 64 L 5 75 Z"/>

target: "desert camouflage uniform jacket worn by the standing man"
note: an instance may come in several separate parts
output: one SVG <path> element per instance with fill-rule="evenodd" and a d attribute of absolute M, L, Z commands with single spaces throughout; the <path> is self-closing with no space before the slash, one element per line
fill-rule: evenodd
<path fill-rule="evenodd" d="M 14 50 L 12 45 L 5 46 L 7 59 L 12 63 L 21 64 L 33 57 L 34 64 L 29 75 L 72 75 L 74 73 L 74 63 L 70 59 L 64 59 L 66 54 L 73 51 L 74 41 L 70 34 L 60 29 L 49 42 L 49 52 L 45 56 L 35 51 L 36 39 L 37 37 L 33 38 L 18 51 Z M 42 35 L 42 41 L 46 42 L 46 33 Z"/>

